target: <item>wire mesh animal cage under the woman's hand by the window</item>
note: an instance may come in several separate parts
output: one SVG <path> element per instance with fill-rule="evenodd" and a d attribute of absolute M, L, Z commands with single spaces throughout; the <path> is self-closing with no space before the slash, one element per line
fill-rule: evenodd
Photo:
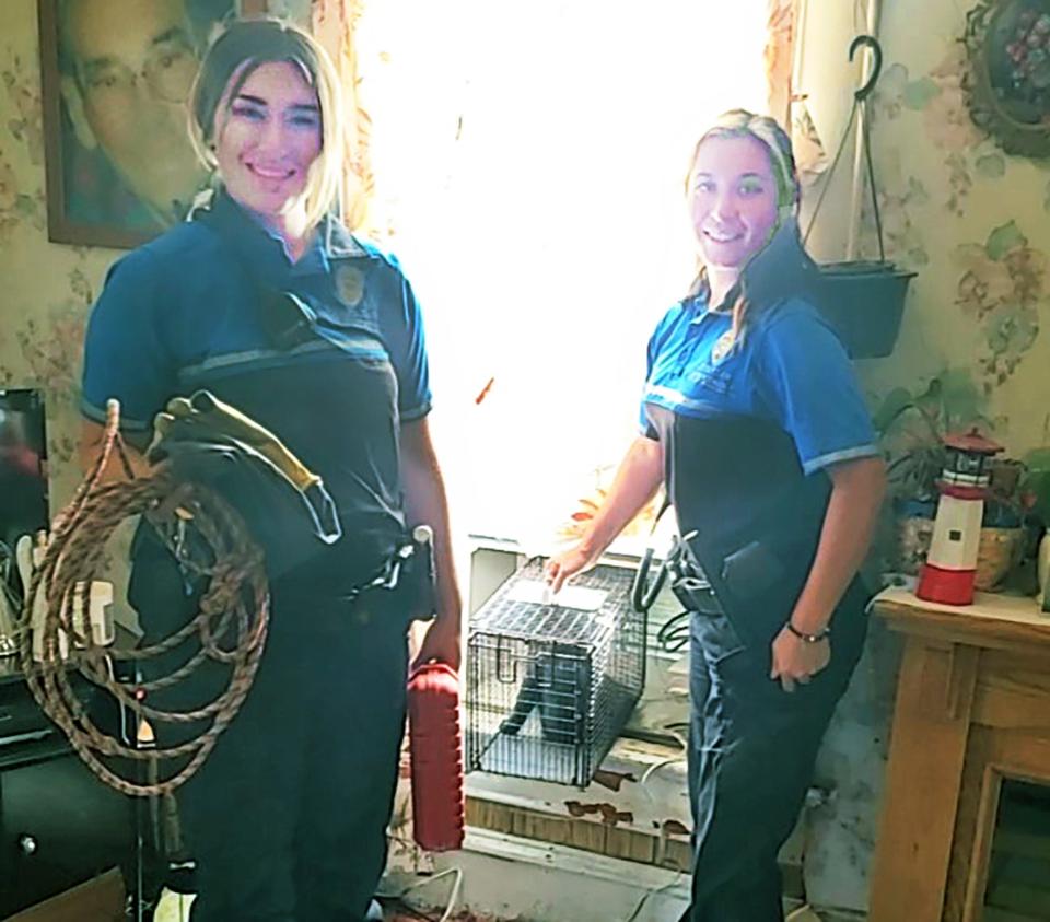
<path fill-rule="evenodd" d="M 544 604 L 542 561 L 533 559 L 474 615 L 467 771 L 591 781 L 645 684 L 645 616 L 631 607 L 633 575 L 596 567 L 555 596 L 558 604 Z"/>

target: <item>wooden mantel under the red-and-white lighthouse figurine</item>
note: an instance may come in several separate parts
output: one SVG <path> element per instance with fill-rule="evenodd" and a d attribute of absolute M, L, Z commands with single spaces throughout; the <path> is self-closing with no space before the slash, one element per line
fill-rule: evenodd
<path fill-rule="evenodd" d="M 868 919 L 980 922 L 1003 779 L 1050 784 L 1050 615 L 902 588 L 874 610 L 906 644 Z"/>

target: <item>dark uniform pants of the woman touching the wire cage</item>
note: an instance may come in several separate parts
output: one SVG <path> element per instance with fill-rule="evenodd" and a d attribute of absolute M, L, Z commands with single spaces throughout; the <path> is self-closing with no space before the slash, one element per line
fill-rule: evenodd
<path fill-rule="evenodd" d="M 693 612 L 693 877 L 682 922 L 783 920 L 777 854 L 798 818 L 820 739 L 863 645 L 863 617 L 849 614 L 853 623 L 836 626 L 829 666 L 788 693 L 769 678 L 769 647 L 745 647 L 722 614 Z"/>

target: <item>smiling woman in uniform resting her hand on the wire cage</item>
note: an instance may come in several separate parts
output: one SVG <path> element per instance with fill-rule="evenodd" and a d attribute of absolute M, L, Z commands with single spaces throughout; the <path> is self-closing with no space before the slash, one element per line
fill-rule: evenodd
<path fill-rule="evenodd" d="M 641 434 L 553 587 L 661 485 L 691 612 L 691 922 L 783 919 L 777 854 L 861 653 L 885 486 L 848 355 L 812 303 L 791 143 L 723 115 L 687 177 L 699 271 L 649 342 Z"/>

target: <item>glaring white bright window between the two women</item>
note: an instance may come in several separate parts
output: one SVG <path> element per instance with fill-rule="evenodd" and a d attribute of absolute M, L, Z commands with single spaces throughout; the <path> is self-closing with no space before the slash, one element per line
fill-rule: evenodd
<path fill-rule="evenodd" d="M 766 15 L 368 4 L 373 213 L 423 304 L 460 529 L 546 534 L 633 437 L 648 337 L 692 277 L 691 144 L 725 108 L 763 109 Z"/>

